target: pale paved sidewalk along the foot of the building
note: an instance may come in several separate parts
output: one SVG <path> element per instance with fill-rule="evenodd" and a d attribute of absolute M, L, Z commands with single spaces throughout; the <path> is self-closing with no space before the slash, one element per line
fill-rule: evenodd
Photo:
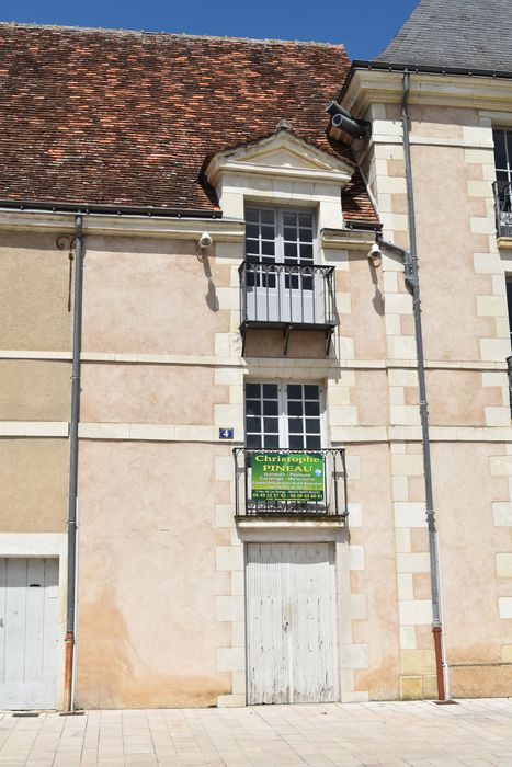
<path fill-rule="evenodd" d="M 512 699 L 0 713 L 0 765 L 512 767 Z"/>

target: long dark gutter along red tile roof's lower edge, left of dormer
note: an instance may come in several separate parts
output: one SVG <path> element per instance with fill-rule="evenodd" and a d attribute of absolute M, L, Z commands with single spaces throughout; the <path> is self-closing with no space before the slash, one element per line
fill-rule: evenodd
<path fill-rule="evenodd" d="M 32 199 L 0 199 L 0 209 L 23 213 L 69 213 L 76 216 L 152 216 L 159 218 L 223 218 L 221 210 L 197 208 L 166 208 L 152 205 L 89 205 L 89 203 L 37 202 Z"/>

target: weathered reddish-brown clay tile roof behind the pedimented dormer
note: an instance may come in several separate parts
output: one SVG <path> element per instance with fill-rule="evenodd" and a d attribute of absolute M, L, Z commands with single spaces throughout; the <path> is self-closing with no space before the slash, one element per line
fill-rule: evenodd
<path fill-rule="evenodd" d="M 326 136 L 341 45 L 0 24 L 0 199 L 212 211 L 206 157 L 281 119 Z M 346 217 L 375 220 L 357 174 Z"/>

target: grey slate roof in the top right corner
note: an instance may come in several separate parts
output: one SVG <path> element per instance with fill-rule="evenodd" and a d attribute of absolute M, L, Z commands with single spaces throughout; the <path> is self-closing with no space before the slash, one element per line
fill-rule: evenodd
<path fill-rule="evenodd" d="M 421 0 L 376 60 L 510 72 L 512 0 Z"/>

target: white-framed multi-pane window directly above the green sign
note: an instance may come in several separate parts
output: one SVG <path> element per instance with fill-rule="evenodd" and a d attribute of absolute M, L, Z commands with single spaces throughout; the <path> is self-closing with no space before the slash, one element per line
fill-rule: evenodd
<path fill-rule="evenodd" d="M 246 446 L 321 448 L 318 384 L 246 384 Z"/>

